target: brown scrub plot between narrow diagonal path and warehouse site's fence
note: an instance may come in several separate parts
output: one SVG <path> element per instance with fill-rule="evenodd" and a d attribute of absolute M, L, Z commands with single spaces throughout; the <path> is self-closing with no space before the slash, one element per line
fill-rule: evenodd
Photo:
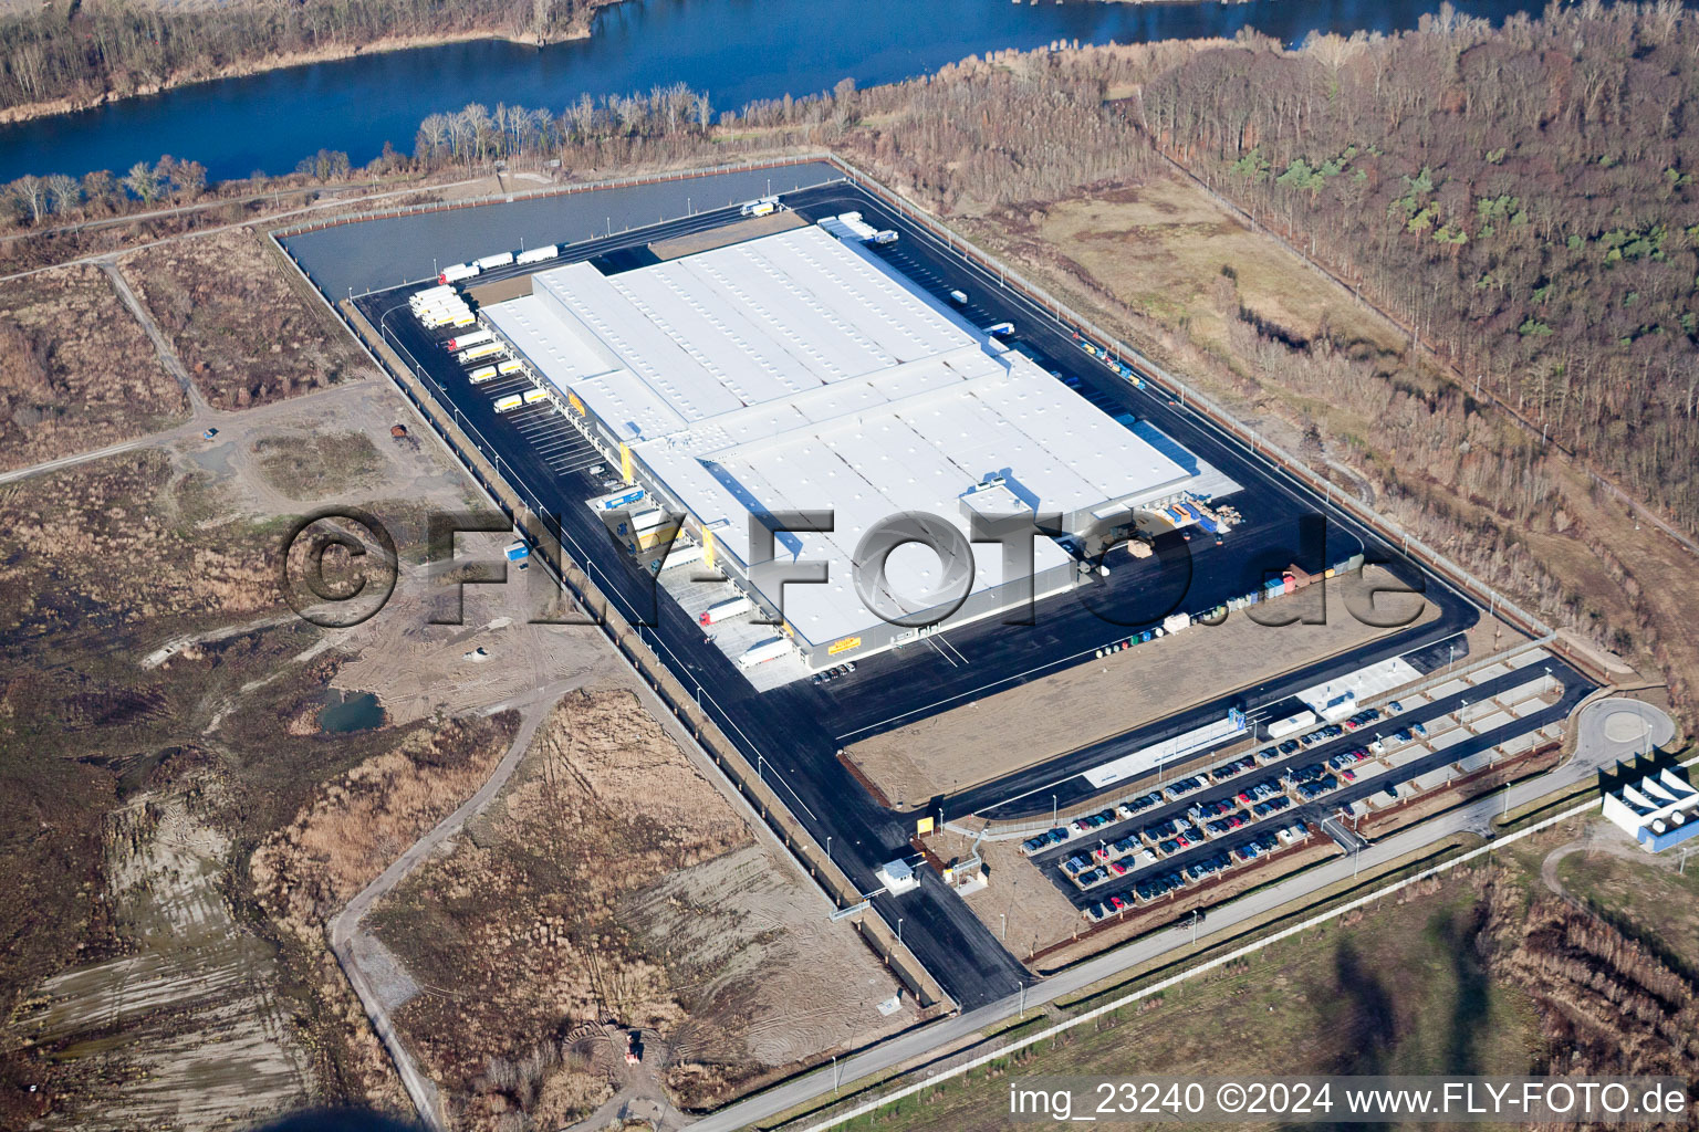
<path fill-rule="evenodd" d="M 148 248 L 121 266 L 214 407 L 243 409 L 372 375 L 370 361 L 251 229 Z"/>

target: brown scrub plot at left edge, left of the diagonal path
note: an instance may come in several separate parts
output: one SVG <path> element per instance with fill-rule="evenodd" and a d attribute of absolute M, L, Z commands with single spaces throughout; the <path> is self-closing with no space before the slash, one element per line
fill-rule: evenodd
<path fill-rule="evenodd" d="M 0 468 L 102 448 L 187 416 L 141 324 L 97 266 L 0 294 Z"/>

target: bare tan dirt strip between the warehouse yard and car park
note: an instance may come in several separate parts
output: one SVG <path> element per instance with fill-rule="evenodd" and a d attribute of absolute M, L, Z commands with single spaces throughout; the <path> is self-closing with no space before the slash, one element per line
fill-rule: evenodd
<path fill-rule="evenodd" d="M 1245 687 L 1395 631 L 1351 614 L 1376 584 L 1388 584 L 1378 567 L 1366 577 L 1330 580 L 1325 625 L 1267 628 L 1233 613 L 1220 626 L 1198 625 L 885 731 L 850 747 L 848 757 L 899 808 L 987 782 L 1232 691 L 1199 681 L 1199 672 L 1232 672 L 1233 687 Z M 1313 608 L 1308 592 L 1286 601 L 1293 609 Z M 1419 621 L 1437 616 L 1424 606 Z M 996 742 L 985 742 L 987 735 Z"/>

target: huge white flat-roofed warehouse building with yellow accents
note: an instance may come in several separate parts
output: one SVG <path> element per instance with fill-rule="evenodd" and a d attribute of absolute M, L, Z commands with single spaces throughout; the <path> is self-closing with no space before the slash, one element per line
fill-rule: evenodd
<path fill-rule="evenodd" d="M 870 601 L 851 565 L 890 516 L 924 513 L 967 535 L 974 511 L 1058 513 L 1079 531 L 1198 482 L 1171 440 L 1111 419 L 819 226 L 607 275 L 542 272 L 484 317 L 620 451 L 629 479 L 686 516 L 717 567 L 782 611 L 814 669 L 912 636 L 940 594 L 967 592 L 955 625 L 1075 582 L 1048 538 L 1035 540 L 1030 584 L 1004 577 L 996 545 L 965 560 L 907 545 L 883 560 Z M 754 516 L 805 511 L 831 511 L 834 528 L 759 536 Z M 792 562 L 824 562 L 827 577 L 763 572 Z M 889 602 L 914 616 L 894 625 Z"/>

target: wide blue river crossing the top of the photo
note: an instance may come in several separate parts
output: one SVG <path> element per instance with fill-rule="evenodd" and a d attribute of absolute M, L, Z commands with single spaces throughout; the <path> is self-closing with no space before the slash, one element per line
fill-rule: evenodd
<path fill-rule="evenodd" d="M 287 173 L 319 148 L 355 165 L 386 141 L 411 151 L 420 119 L 467 102 L 549 107 L 579 93 L 685 81 L 715 109 L 860 87 L 938 70 L 970 54 L 1048 42 L 1232 36 L 1250 25 L 1288 42 L 1310 31 L 1414 27 L 1439 0 L 1250 0 L 1249 3 L 1009 3 L 1008 0 L 627 0 L 588 39 L 547 48 L 472 41 L 289 66 L 178 87 L 75 114 L 0 126 L 0 182 L 24 173 L 122 171 L 163 153 L 212 180 Z M 1500 22 L 1543 0 L 1461 0 Z"/>

